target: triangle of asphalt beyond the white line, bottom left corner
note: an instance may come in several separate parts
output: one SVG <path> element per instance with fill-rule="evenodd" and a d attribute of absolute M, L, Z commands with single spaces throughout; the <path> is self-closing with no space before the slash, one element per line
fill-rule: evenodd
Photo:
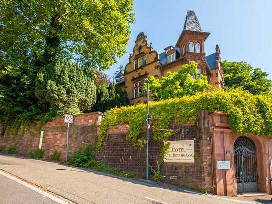
<path fill-rule="evenodd" d="M 14 180 L 0 175 L 0 203 L 53 204 L 56 202 L 17 183 Z"/>

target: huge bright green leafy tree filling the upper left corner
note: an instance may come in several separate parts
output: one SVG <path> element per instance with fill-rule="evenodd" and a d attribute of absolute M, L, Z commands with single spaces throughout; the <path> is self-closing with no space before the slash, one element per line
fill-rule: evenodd
<path fill-rule="evenodd" d="M 37 68 L 57 58 L 108 69 L 125 53 L 132 0 L 2 0 L 0 59 Z"/>

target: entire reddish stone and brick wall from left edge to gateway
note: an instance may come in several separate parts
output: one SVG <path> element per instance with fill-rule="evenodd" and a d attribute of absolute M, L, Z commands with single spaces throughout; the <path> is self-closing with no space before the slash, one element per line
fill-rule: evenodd
<path fill-rule="evenodd" d="M 70 153 L 88 144 L 96 143 L 99 131 L 97 121 L 100 118 L 99 112 L 74 117 L 74 124 L 70 126 L 69 132 Z M 175 130 L 175 134 L 169 140 L 195 140 L 195 163 L 163 164 L 161 172 L 165 176 L 165 182 L 198 190 L 211 190 L 212 159 L 207 120 L 208 114 L 202 112 L 199 115 L 199 123 L 187 125 L 174 123 L 169 127 Z M 64 123 L 63 118 L 56 118 L 45 125 L 42 144 L 42 149 L 45 150 L 44 158 L 50 158 L 56 150 L 61 152 L 62 159 L 65 158 L 66 128 L 67 124 Z M 109 129 L 101 150 L 95 153 L 96 159 L 113 168 L 131 171 L 144 177 L 145 147 L 134 149 L 131 142 L 125 139 L 127 132 L 127 124 L 120 124 Z M 145 133 L 142 137 L 145 137 Z M 40 132 L 32 127 L 27 128 L 18 140 L 0 136 L 0 146 L 9 147 L 17 144 L 19 153 L 28 155 L 30 151 L 38 148 L 39 140 Z M 161 146 L 161 142 L 150 141 L 149 160 L 154 169 L 159 160 Z"/>

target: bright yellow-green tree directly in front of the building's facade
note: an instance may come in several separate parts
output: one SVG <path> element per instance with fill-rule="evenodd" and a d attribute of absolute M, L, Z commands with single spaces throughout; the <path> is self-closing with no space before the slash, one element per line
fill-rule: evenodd
<path fill-rule="evenodd" d="M 199 79 L 192 79 L 191 76 L 194 75 L 197 75 L 196 62 L 183 65 L 178 72 L 168 72 L 161 80 L 149 76 L 149 89 L 152 97 L 155 100 L 162 100 L 185 95 L 191 96 L 197 92 L 211 89 L 206 76 L 200 75 Z"/>

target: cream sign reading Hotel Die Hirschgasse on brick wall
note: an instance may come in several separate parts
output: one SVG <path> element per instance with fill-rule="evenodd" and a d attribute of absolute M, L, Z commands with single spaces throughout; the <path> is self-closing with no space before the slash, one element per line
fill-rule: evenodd
<path fill-rule="evenodd" d="M 168 141 L 165 163 L 194 163 L 194 140 Z"/>

